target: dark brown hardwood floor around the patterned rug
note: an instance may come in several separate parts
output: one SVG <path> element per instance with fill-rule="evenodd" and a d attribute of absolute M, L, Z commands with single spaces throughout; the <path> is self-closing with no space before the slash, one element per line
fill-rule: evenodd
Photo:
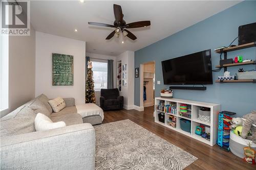
<path fill-rule="evenodd" d="M 256 165 L 246 163 L 231 152 L 221 150 L 217 144 L 214 147 L 210 147 L 196 139 L 156 124 L 153 113 L 153 106 L 144 108 L 142 112 L 137 110 L 106 111 L 104 112 L 103 124 L 123 119 L 132 120 L 134 123 L 198 158 L 197 161 L 185 169 L 256 169 Z"/>

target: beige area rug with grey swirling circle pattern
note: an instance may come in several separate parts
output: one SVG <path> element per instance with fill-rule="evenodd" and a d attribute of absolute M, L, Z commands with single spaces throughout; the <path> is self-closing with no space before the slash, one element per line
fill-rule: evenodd
<path fill-rule="evenodd" d="M 129 119 L 94 128 L 95 169 L 183 169 L 197 160 Z"/>

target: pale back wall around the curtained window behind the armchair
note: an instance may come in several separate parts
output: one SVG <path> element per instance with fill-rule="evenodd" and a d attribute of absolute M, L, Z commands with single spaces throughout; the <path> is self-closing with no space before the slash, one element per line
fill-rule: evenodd
<path fill-rule="evenodd" d="M 114 88 L 116 88 L 116 57 L 114 56 L 108 56 L 108 55 L 101 55 L 101 54 L 95 54 L 95 53 L 86 53 L 86 56 L 87 57 L 91 57 L 93 59 L 91 60 L 94 60 L 94 61 L 97 61 L 97 59 L 99 59 L 98 61 L 100 60 L 114 60 L 113 61 L 113 81 L 114 81 Z M 96 59 L 96 60 L 95 60 Z M 95 91 L 95 99 L 96 99 L 96 105 L 100 106 L 100 101 L 99 101 L 99 98 L 100 98 L 100 91 Z"/>

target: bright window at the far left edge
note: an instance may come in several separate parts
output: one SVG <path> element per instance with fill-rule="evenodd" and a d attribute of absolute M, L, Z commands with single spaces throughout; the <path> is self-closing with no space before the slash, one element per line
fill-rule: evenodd
<path fill-rule="evenodd" d="M 9 37 L 0 36 L 0 111 L 8 109 L 9 85 Z"/>

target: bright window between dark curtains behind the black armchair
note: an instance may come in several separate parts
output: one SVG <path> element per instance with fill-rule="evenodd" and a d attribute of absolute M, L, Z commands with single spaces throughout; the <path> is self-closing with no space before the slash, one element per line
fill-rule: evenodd
<path fill-rule="evenodd" d="M 92 61 L 94 90 L 100 91 L 102 88 L 107 88 L 106 83 L 108 79 L 108 63 Z"/>

